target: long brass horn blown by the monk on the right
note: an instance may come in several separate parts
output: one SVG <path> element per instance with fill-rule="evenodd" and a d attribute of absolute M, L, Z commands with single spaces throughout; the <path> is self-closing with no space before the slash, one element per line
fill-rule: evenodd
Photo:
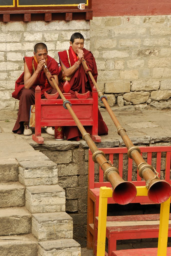
<path fill-rule="evenodd" d="M 82 61 L 82 65 L 83 65 L 84 70 L 88 69 L 86 61 L 84 59 Z M 89 74 L 90 78 L 92 79 L 92 82 L 98 92 L 98 97 L 100 98 L 104 94 L 100 91 L 92 73 L 90 71 L 88 71 L 88 74 Z M 138 170 L 139 170 L 139 176 L 141 178 L 144 178 L 144 180 L 146 182 L 146 187 L 148 188 L 149 199 L 152 202 L 157 203 L 157 204 L 165 202 L 171 195 L 170 184 L 164 180 L 160 180 L 158 175 L 156 175 L 153 172 L 154 168 L 152 166 L 148 165 L 144 161 L 143 157 L 140 155 L 140 153 L 141 153 L 140 148 L 134 146 L 134 144 L 132 143 L 132 141 L 130 140 L 128 135 L 126 134 L 126 130 L 121 126 L 121 124 L 117 120 L 115 114 L 111 110 L 107 100 L 104 97 L 102 97 L 101 101 L 105 105 L 113 123 L 115 124 L 115 126 L 118 130 L 118 134 L 121 136 L 123 142 L 125 143 L 126 147 L 128 148 L 128 156 L 130 158 L 132 158 L 134 160 L 135 164 L 137 165 Z"/>

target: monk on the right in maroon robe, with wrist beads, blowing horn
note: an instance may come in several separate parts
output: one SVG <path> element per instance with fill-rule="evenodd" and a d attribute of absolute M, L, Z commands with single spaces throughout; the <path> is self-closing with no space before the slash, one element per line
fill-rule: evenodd
<path fill-rule="evenodd" d="M 63 82 L 59 84 L 63 92 L 63 84 L 67 80 L 71 86 L 71 98 L 76 98 L 75 91 L 86 93 L 90 91 L 89 98 L 92 98 L 92 88 L 94 86 L 89 74 L 86 74 L 82 66 L 82 58 L 86 60 L 88 68 L 92 69 L 92 75 L 97 82 L 97 66 L 93 54 L 84 48 L 84 37 L 80 33 L 74 33 L 70 39 L 70 48 L 67 51 L 58 52 L 62 70 Z M 85 130 L 91 134 L 91 127 L 85 126 Z M 78 141 L 82 136 L 77 126 L 66 126 L 64 128 L 67 140 L 74 138 Z M 108 134 L 108 128 L 98 110 L 98 135 Z"/>

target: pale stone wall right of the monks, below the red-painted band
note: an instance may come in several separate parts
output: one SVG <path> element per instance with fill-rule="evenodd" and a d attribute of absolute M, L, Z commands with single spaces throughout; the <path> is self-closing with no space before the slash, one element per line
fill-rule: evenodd
<path fill-rule="evenodd" d="M 90 21 L 90 50 L 97 62 L 99 87 L 110 106 L 171 107 L 170 35 L 171 16 Z"/>

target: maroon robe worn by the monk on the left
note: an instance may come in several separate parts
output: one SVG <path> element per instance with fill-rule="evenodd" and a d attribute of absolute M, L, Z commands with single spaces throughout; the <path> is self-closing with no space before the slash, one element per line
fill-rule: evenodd
<path fill-rule="evenodd" d="M 32 61 L 34 64 L 35 70 L 37 69 L 37 63 L 34 57 L 24 57 L 29 72 L 32 76 L 33 74 L 33 66 Z M 51 72 L 52 75 L 58 75 L 59 67 L 58 62 L 56 62 L 53 58 L 48 56 L 47 59 L 47 68 Z M 28 122 L 30 117 L 30 106 L 35 104 L 35 88 L 36 86 L 40 86 L 41 88 L 41 97 L 44 98 L 44 91 L 49 94 L 53 94 L 56 92 L 56 89 L 53 89 L 51 85 L 46 83 L 46 75 L 44 70 L 40 71 L 37 79 L 35 80 L 33 86 L 30 89 L 24 88 L 24 72 L 21 76 L 17 79 L 15 83 L 15 91 L 12 93 L 12 97 L 15 99 L 20 100 L 19 102 L 19 110 L 18 110 L 18 118 L 14 125 L 13 132 L 21 134 L 24 131 L 23 122 Z"/>

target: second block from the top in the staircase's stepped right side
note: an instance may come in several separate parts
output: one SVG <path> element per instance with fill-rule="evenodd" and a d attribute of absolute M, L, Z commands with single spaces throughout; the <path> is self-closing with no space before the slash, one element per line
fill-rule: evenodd
<path fill-rule="evenodd" d="M 59 185 L 26 187 L 26 208 L 31 213 L 65 211 L 65 190 Z"/>

